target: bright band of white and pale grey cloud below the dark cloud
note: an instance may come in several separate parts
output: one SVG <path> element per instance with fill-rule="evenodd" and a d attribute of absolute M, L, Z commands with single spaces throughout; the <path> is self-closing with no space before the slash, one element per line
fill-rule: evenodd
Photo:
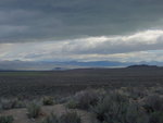
<path fill-rule="evenodd" d="M 126 36 L 100 36 L 62 41 L 1 44 L 0 60 L 163 60 L 163 30 Z"/>

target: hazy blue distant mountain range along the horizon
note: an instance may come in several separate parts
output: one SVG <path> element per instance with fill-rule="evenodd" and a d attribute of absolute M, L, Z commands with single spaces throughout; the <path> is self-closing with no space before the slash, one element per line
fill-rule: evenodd
<path fill-rule="evenodd" d="M 136 64 L 136 65 L 135 65 Z M 80 69 L 80 67 L 136 67 L 139 64 L 158 65 L 162 66 L 163 62 L 116 62 L 116 61 L 0 61 L 0 71 L 16 71 L 16 70 L 36 70 L 36 71 L 49 71 L 49 70 L 67 70 L 67 69 Z"/>

